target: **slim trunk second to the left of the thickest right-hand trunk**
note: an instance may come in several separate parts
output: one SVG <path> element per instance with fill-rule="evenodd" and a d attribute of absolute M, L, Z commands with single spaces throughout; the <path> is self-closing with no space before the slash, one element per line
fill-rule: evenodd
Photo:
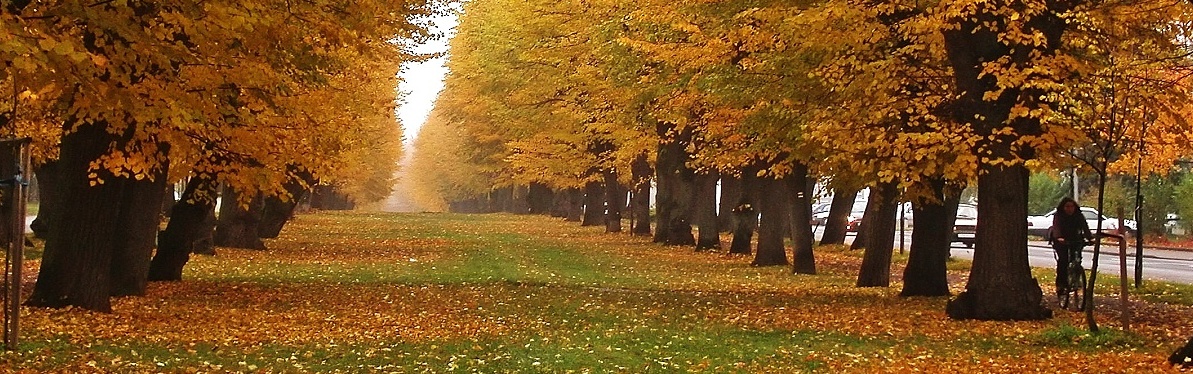
<path fill-rule="evenodd" d="M 866 211 L 866 215 L 873 215 L 873 220 L 863 227 L 866 231 L 866 252 L 861 258 L 858 287 L 888 287 L 891 282 L 891 252 L 895 251 L 898 186 L 895 183 L 879 183 L 872 191 L 877 194 L 870 195 L 870 203 L 876 210 Z"/>

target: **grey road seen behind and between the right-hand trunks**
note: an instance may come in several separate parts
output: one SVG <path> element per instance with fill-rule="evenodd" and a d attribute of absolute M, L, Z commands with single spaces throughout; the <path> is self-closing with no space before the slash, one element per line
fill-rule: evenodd
<path fill-rule="evenodd" d="M 821 234 L 820 229 L 815 231 L 815 234 Z M 895 249 L 900 247 L 900 233 L 895 233 Z M 846 243 L 853 241 L 853 234 L 851 233 L 846 237 Z M 908 229 L 904 233 L 902 240 L 904 249 L 911 247 L 911 231 Z M 950 251 L 952 256 L 964 259 L 973 258 L 973 250 L 968 249 L 960 243 L 953 243 L 952 250 Z M 1086 269 L 1089 269 L 1093 264 L 1093 246 L 1087 246 L 1086 252 L 1082 256 L 1082 263 Z M 1028 263 L 1036 268 L 1049 268 L 1056 269 L 1056 258 L 1052 255 L 1052 247 L 1045 241 L 1028 241 L 1027 243 L 1027 258 Z M 1127 247 L 1127 278 L 1135 280 L 1135 247 Z M 1102 253 L 1099 257 L 1098 264 L 1099 277 L 1114 277 L 1119 275 L 1119 255 L 1118 246 L 1115 244 L 1106 244 L 1102 246 Z M 1144 280 L 1157 280 L 1168 281 L 1185 284 L 1193 284 L 1193 252 L 1180 252 L 1180 251 L 1167 251 L 1157 249 L 1144 249 L 1143 257 L 1143 278 Z"/>

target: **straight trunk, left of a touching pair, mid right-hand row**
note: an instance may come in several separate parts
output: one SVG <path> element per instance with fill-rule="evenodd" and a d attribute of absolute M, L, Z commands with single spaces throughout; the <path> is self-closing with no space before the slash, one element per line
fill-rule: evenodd
<path fill-rule="evenodd" d="M 785 180 L 759 178 L 761 197 L 759 198 L 758 250 L 754 252 L 754 266 L 772 266 L 787 264 L 787 249 L 783 239 L 787 232 L 791 217 L 791 200 L 787 196 Z"/>

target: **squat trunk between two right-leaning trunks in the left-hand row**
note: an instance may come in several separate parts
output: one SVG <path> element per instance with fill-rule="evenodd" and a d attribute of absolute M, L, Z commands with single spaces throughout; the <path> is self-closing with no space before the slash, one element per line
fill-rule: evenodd
<path fill-rule="evenodd" d="M 261 223 L 262 198 L 252 197 L 248 207 L 241 208 L 237 202 L 240 192 L 224 186 L 223 202 L 220 204 L 220 219 L 212 241 L 216 246 L 246 250 L 265 250 L 265 243 L 256 235 Z"/>

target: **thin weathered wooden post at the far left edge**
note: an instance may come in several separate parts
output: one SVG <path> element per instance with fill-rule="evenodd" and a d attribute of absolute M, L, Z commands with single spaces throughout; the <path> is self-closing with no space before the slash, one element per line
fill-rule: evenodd
<path fill-rule="evenodd" d="M 29 139 L 0 140 L 0 239 L 5 251 L 4 344 L 17 349 L 21 263 L 25 257 L 25 197 Z"/>

